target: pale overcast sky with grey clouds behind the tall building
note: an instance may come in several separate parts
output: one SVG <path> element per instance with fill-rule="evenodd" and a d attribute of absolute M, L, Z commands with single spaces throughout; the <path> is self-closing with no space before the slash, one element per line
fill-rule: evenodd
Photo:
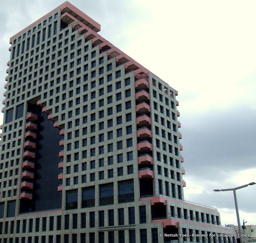
<path fill-rule="evenodd" d="M 9 38 L 64 1 L 0 2 L 3 93 Z M 178 90 L 185 199 L 217 207 L 222 225 L 237 225 L 233 193 L 212 190 L 256 182 L 256 1 L 70 2 L 101 24 L 101 36 Z M 255 192 L 256 185 L 237 191 L 240 219 L 254 225 Z"/>

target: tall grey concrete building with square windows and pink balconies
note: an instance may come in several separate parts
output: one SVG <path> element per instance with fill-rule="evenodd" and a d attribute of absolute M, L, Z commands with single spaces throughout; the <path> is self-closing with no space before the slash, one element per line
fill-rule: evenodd
<path fill-rule="evenodd" d="M 178 92 L 99 31 L 65 2 L 10 38 L 0 242 L 230 243 L 184 200 Z"/>

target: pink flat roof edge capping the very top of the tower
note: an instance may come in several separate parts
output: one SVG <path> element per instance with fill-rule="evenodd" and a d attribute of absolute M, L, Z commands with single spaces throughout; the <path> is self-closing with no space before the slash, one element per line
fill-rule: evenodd
<path fill-rule="evenodd" d="M 22 34 L 23 32 L 26 32 L 27 30 L 29 30 L 30 28 L 32 28 L 33 26 L 35 26 L 36 24 L 40 23 L 42 20 L 44 20 L 45 18 L 47 18 L 50 14 L 53 14 L 54 12 L 57 12 L 59 9 L 64 10 L 65 8 L 69 8 L 72 12 L 76 13 L 77 15 L 79 15 L 81 18 L 83 18 L 86 22 L 88 22 L 90 25 L 92 25 L 92 27 L 95 29 L 95 31 L 100 31 L 100 24 L 98 24 L 95 20 L 93 20 L 92 18 L 90 18 L 88 15 L 84 14 L 81 10 L 79 10 L 78 8 L 76 8 L 74 5 L 70 4 L 68 1 L 64 2 L 63 4 L 61 4 L 60 6 L 58 6 L 57 8 L 54 8 L 54 10 L 50 11 L 48 14 L 44 15 L 42 18 L 40 18 L 39 20 L 36 20 L 34 23 L 30 24 L 28 27 L 24 28 L 23 30 L 21 30 L 20 32 L 18 32 L 17 34 L 15 34 L 14 36 L 12 36 L 10 38 L 10 44 L 12 43 L 12 40 L 14 38 L 16 38 L 17 36 L 19 36 L 20 34 Z"/>

